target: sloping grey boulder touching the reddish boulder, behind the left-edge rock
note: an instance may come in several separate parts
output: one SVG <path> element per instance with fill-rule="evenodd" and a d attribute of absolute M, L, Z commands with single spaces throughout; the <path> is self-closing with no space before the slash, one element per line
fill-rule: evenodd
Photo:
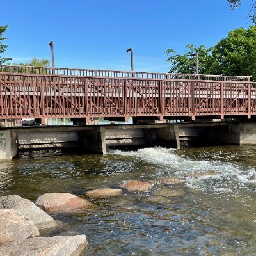
<path fill-rule="evenodd" d="M 56 227 L 58 223 L 33 202 L 18 195 L 1 196 L 0 209 L 13 209 L 35 223 L 39 230 Z"/>

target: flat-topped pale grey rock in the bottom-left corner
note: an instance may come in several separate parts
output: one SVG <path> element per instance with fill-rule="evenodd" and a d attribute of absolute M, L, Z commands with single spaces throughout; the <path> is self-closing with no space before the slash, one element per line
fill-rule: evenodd
<path fill-rule="evenodd" d="M 0 246 L 1 256 L 79 256 L 87 246 L 85 235 L 35 237 Z"/>

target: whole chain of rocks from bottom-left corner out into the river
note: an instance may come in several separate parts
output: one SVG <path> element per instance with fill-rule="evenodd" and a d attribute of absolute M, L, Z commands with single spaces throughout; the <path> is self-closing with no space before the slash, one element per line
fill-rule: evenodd
<path fill-rule="evenodd" d="M 216 172 L 200 172 L 188 176 L 201 179 Z M 45 237 L 45 230 L 53 230 L 60 223 L 47 212 L 76 214 L 95 209 L 90 200 L 112 198 L 122 193 L 148 193 L 148 202 L 156 197 L 173 198 L 183 195 L 180 186 L 186 180 L 177 177 L 159 177 L 155 181 L 126 180 L 118 188 L 100 188 L 86 191 L 81 196 L 70 193 L 45 193 L 35 204 L 19 195 L 0 197 L 0 255 L 1 256 L 74 256 L 81 255 L 87 246 L 84 234 L 76 236 Z M 40 232 L 44 230 L 44 237 Z"/>

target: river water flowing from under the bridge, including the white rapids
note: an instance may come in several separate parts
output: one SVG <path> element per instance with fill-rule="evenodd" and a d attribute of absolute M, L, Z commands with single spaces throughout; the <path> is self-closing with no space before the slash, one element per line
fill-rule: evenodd
<path fill-rule="evenodd" d="M 86 255 L 255 255 L 255 166 L 251 146 L 109 150 L 106 156 L 23 152 L 0 164 L 0 195 L 35 201 L 46 192 L 80 195 L 124 180 L 179 177 L 184 184 L 96 200 L 83 214 L 53 214 L 63 225 L 43 236 L 86 234 Z"/>

